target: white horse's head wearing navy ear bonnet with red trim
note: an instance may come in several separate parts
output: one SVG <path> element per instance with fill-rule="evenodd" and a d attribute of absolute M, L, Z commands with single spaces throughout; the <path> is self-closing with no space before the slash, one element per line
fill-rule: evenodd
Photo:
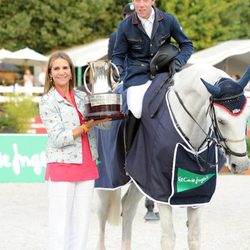
<path fill-rule="evenodd" d="M 244 88 L 250 80 L 250 67 L 238 82 L 221 78 L 214 85 L 201 79 L 211 94 L 211 116 L 219 143 L 229 156 L 232 172 L 249 168 L 245 141 L 246 122 L 250 114 Z"/>

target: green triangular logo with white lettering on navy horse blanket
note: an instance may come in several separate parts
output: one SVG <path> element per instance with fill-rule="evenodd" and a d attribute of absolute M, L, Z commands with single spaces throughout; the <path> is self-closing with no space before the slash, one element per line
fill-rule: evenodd
<path fill-rule="evenodd" d="M 177 192 L 197 188 L 210 180 L 215 174 L 194 174 L 182 168 L 178 169 Z"/>

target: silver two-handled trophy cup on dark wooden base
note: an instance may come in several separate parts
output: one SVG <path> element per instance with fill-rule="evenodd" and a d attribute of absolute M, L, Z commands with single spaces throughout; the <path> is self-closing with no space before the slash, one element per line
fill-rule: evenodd
<path fill-rule="evenodd" d="M 110 61 L 98 60 L 88 63 L 83 75 L 84 87 L 88 93 L 84 99 L 85 120 L 125 118 L 122 112 L 122 95 L 112 92 L 112 70 L 116 70 L 119 75 L 117 67 Z"/>

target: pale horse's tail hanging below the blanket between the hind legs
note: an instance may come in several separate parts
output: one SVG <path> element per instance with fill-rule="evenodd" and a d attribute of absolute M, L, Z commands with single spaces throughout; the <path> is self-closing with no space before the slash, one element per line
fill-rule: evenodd
<path fill-rule="evenodd" d="M 119 225 L 121 218 L 121 188 L 110 191 L 107 221 L 111 225 Z"/>

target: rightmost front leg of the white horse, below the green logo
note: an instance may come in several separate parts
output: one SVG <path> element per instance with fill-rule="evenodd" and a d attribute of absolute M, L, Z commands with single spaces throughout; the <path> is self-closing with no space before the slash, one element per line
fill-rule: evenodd
<path fill-rule="evenodd" d="M 200 250 L 201 208 L 187 208 L 188 246 L 189 250 Z"/>

